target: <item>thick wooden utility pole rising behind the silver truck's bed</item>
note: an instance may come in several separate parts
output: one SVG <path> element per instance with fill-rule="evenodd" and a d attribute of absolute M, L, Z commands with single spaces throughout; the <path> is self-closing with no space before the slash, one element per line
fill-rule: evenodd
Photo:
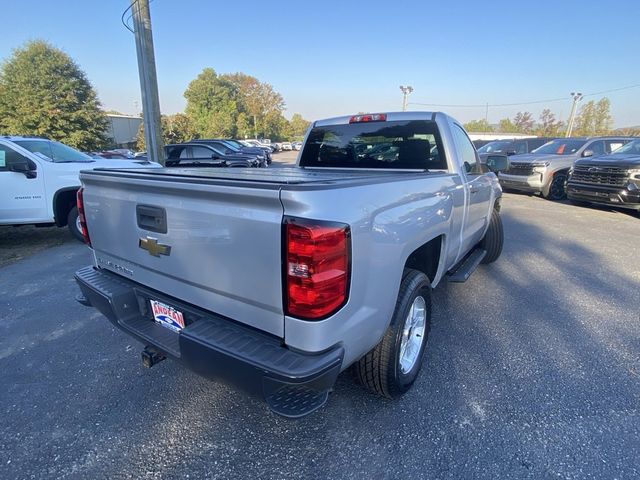
<path fill-rule="evenodd" d="M 142 93 L 142 116 L 147 157 L 151 161 L 164 165 L 160 97 L 158 96 L 156 59 L 153 53 L 149 0 L 131 0 L 131 13 L 133 14 L 133 30 L 136 37 L 136 53 L 138 54 L 138 73 L 140 75 L 140 91 Z"/>

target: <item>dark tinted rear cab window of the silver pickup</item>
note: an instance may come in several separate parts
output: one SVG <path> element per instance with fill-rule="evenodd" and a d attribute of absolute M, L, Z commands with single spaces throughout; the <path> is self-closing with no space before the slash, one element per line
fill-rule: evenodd
<path fill-rule="evenodd" d="M 446 169 L 432 121 L 366 122 L 315 127 L 300 156 L 303 167 Z"/>

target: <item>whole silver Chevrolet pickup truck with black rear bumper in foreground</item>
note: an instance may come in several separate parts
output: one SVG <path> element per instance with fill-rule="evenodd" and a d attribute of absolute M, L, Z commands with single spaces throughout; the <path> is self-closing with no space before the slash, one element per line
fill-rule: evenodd
<path fill-rule="evenodd" d="M 443 113 L 313 123 L 296 167 L 94 170 L 79 301 L 146 345 L 289 417 L 353 367 L 389 398 L 412 385 L 431 291 L 502 250 L 501 189 Z"/>

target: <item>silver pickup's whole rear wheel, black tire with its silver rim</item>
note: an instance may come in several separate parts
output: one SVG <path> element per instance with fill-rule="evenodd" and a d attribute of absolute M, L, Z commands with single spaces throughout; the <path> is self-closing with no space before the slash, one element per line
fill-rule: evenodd
<path fill-rule="evenodd" d="M 422 367 L 430 323 L 431 283 L 424 273 L 407 269 L 389 328 L 354 365 L 360 383 L 386 398 L 409 390 Z"/>

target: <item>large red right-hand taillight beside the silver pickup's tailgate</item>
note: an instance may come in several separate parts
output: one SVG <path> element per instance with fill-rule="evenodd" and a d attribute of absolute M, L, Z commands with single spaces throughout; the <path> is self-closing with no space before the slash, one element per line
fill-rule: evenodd
<path fill-rule="evenodd" d="M 286 313 L 306 320 L 328 317 L 349 295 L 349 226 L 287 218 L 284 229 Z"/>

